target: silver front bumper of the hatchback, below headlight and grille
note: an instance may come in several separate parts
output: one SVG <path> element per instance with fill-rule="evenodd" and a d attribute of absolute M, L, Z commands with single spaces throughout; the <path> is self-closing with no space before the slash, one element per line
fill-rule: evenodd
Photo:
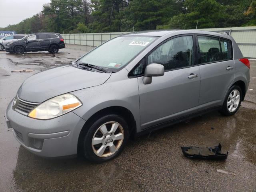
<path fill-rule="evenodd" d="M 12 102 L 6 110 L 6 122 L 13 128 L 18 142 L 30 152 L 45 157 L 69 156 L 77 153 L 78 137 L 85 120 L 69 112 L 50 120 L 37 120 L 12 110 Z M 41 140 L 37 149 L 31 140 Z"/>

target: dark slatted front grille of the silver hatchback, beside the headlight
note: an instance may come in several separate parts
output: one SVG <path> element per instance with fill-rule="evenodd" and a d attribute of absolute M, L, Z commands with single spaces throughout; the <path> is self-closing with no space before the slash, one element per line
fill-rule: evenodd
<path fill-rule="evenodd" d="M 18 98 L 18 96 L 16 96 L 13 101 L 13 109 L 25 115 L 27 115 L 32 109 L 34 109 L 38 105 L 38 103 L 23 101 L 20 98 Z"/>

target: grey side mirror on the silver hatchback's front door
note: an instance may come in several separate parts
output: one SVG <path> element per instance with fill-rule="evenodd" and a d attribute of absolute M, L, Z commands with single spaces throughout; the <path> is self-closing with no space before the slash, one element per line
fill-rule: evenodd
<path fill-rule="evenodd" d="M 161 64 L 152 63 L 146 66 L 142 81 L 145 85 L 150 84 L 152 83 L 152 77 L 158 77 L 163 75 L 164 75 L 164 66 Z"/>

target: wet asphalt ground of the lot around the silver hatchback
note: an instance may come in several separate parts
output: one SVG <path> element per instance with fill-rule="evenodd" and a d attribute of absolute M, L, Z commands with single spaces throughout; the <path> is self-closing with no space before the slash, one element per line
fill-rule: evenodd
<path fill-rule="evenodd" d="M 47 159 L 20 146 L 7 129 L 4 112 L 22 82 L 42 70 L 68 64 L 90 49 L 68 45 L 56 55 L 0 52 L 0 192 L 256 191 L 256 61 L 251 61 L 249 90 L 234 116 L 211 112 L 130 140 L 112 161 Z M 219 143 L 223 152 L 229 152 L 225 161 L 188 159 L 180 149 Z"/>

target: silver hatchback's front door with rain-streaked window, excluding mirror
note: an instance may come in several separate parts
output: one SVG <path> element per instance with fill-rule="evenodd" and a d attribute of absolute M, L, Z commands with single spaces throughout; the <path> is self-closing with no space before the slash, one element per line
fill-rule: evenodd
<path fill-rule="evenodd" d="M 200 70 L 194 63 L 194 43 L 192 35 L 172 38 L 146 57 L 147 64 L 162 64 L 165 73 L 146 85 L 138 77 L 142 129 L 197 111 Z"/>

